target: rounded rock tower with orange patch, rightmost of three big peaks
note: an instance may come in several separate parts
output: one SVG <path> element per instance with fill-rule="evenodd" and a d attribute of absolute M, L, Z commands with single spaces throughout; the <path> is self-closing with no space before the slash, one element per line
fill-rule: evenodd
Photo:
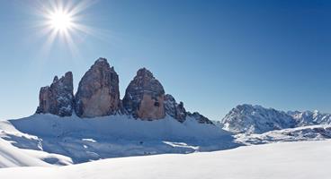
<path fill-rule="evenodd" d="M 156 120 L 165 117 L 165 90 L 152 72 L 139 69 L 125 91 L 123 107 L 135 118 Z"/>

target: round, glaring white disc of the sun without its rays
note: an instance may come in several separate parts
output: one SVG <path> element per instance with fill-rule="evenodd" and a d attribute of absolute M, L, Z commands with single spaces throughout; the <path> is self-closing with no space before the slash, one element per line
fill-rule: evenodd
<path fill-rule="evenodd" d="M 69 13 L 57 11 L 49 15 L 49 24 L 53 30 L 69 30 L 73 25 L 73 18 Z"/>

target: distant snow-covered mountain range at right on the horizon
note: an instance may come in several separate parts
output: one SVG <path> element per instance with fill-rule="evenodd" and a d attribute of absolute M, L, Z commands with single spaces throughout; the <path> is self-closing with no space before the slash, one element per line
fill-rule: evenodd
<path fill-rule="evenodd" d="M 244 104 L 231 109 L 218 125 L 235 133 L 263 133 L 316 124 L 331 124 L 331 115 L 318 111 L 283 112 Z"/>

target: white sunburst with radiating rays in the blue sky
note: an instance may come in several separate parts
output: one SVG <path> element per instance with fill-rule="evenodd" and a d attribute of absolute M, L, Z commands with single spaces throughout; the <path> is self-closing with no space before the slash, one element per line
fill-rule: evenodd
<path fill-rule="evenodd" d="M 86 35 L 94 35 L 94 29 L 85 24 L 85 10 L 95 1 L 45 1 L 37 4 L 40 21 L 38 34 L 46 37 L 42 47 L 44 53 L 60 40 L 73 55 L 78 54 L 77 44 L 81 44 Z"/>

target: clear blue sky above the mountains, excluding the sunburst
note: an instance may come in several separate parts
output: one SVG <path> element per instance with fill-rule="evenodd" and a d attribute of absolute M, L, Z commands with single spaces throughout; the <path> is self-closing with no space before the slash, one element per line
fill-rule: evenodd
<path fill-rule="evenodd" d="M 43 33 L 46 1 L 0 1 L 0 119 L 32 115 L 41 86 L 106 57 L 121 98 L 140 67 L 190 111 L 248 103 L 331 113 L 331 1 L 96 1 L 72 41 Z M 73 2 L 72 4 L 79 4 Z"/>

